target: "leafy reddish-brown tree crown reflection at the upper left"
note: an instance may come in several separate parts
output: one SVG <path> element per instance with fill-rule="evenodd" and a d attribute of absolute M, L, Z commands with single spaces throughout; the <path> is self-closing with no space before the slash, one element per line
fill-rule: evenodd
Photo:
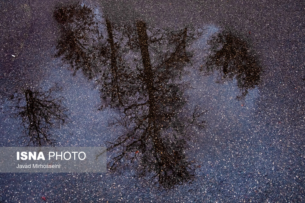
<path fill-rule="evenodd" d="M 93 9 L 72 4 L 55 9 L 53 16 L 60 28 L 55 56 L 70 64 L 74 74 L 81 69 L 88 79 L 93 79 L 100 72 L 100 64 L 106 63 L 105 57 L 109 58 Z"/>

